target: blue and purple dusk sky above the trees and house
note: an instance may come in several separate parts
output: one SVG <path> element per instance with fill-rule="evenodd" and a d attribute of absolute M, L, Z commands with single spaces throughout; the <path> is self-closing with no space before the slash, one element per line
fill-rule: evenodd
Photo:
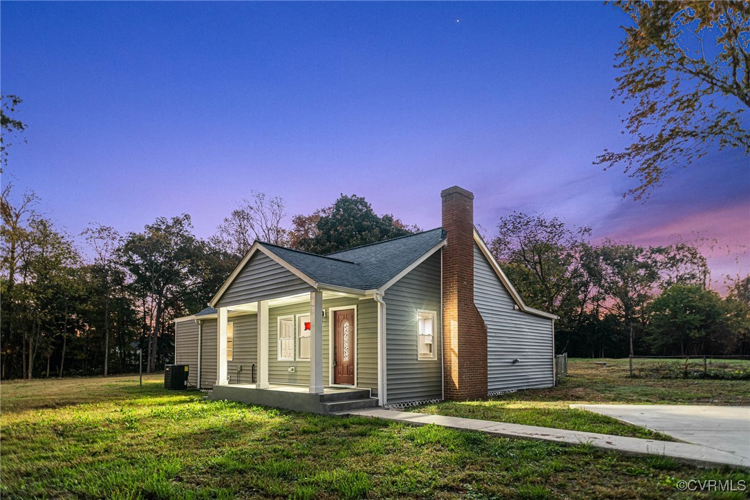
<path fill-rule="evenodd" d="M 440 190 L 492 233 L 540 211 L 597 238 L 717 238 L 746 274 L 750 169 L 715 151 L 645 204 L 592 160 L 622 148 L 610 100 L 625 16 L 599 2 L 0 4 L 1 87 L 28 144 L 4 181 L 77 233 L 187 212 L 211 235 L 250 190 L 309 214 L 340 193 L 423 229 Z M 726 248 L 730 251 L 727 254 Z M 706 252 L 709 250 L 706 247 Z"/>

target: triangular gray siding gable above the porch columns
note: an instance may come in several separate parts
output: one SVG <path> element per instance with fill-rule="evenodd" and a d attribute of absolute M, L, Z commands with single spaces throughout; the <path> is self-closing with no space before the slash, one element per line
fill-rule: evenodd
<path fill-rule="evenodd" d="M 292 271 L 258 250 L 223 293 L 216 307 L 266 301 L 313 290 Z"/>

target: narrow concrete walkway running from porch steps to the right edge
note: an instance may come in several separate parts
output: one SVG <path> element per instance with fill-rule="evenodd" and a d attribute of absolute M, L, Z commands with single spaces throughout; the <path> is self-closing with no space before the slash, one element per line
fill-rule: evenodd
<path fill-rule="evenodd" d="M 750 460 L 736 454 L 690 443 L 654 441 L 652 439 L 625 438 L 607 434 L 580 433 L 574 430 L 550 429 L 531 425 L 501 424 L 499 422 L 475 420 L 473 418 L 443 417 L 424 413 L 399 412 L 382 408 L 351 410 L 342 415 L 383 418 L 406 424 L 435 424 L 459 430 L 477 430 L 491 436 L 512 439 L 538 439 L 541 441 L 578 445 L 589 443 L 595 448 L 618 451 L 625 455 L 664 455 L 698 466 L 718 467 L 724 465 L 750 468 Z"/>

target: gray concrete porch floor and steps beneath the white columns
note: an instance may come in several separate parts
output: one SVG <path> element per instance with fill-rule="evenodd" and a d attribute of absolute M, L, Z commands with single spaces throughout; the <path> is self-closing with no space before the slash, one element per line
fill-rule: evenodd
<path fill-rule="evenodd" d="M 257 388 L 255 384 L 214 385 L 208 399 L 232 400 L 323 415 L 378 406 L 377 399 L 371 397 L 370 389 L 325 387 L 319 393 L 311 393 L 308 386 L 284 384 L 269 384 L 263 389 Z"/>

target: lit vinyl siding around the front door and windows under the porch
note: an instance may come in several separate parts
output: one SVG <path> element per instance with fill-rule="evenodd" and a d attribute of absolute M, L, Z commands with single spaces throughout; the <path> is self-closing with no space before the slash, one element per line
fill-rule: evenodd
<path fill-rule="evenodd" d="M 323 385 L 330 380 L 330 334 L 332 313 L 329 307 L 349 307 L 357 310 L 357 386 L 371 388 L 377 394 L 377 304 L 374 300 L 359 301 L 356 298 L 332 298 L 323 301 L 326 316 L 323 317 Z M 297 315 L 309 314 L 310 303 L 290 304 L 269 309 L 269 382 L 276 384 L 310 384 L 310 361 L 278 360 L 278 319 L 294 316 L 295 357 L 297 352 Z M 290 367 L 295 368 L 290 373 Z M 368 373 L 368 370 L 372 370 Z"/>

